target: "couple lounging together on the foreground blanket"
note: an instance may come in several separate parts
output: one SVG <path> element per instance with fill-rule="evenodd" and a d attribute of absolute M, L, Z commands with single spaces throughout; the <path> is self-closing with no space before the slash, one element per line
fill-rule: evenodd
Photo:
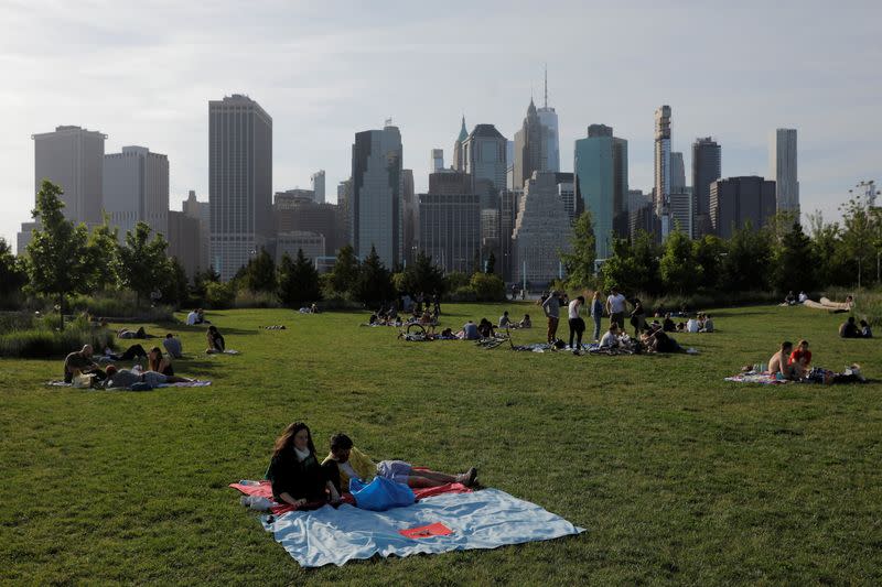
<path fill-rule="evenodd" d="M 349 489 L 349 479 L 358 478 L 367 482 L 375 476 L 412 488 L 454 482 L 472 486 L 477 470 L 471 468 L 461 475 L 447 475 L 415 469 L 402 460 L 375 464 L 355 448 L 345 434 L 335 434 L 331 438 L 331 453 L 319 464 L 309 426 L 294 422 L 276 439 L 276 449 L 266 475 L 272 485 L 273 499 L 298 508 L 316 502 L 338 503 L 341 493 Z"/>

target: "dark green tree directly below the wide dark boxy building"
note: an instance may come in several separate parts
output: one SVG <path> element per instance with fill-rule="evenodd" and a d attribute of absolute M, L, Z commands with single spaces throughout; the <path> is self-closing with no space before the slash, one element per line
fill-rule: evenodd
<path fill-rule="evenodd" d="M 732 292 L 766 290 L 771 257 L 767 231 L 754 230 L 750 222 L 735 229 L 723 258 L 720 287 Z"/>

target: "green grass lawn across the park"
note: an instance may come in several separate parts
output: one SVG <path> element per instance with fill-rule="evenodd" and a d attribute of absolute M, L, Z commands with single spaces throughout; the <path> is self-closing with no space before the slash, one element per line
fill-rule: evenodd
<path fill-rule="evenodd" d="M 534 305 L 447 305 L 442 323 L 504 307 L 538 326 L 516 343 L 544 338 Z M 214 384 L 146 393 L 47 388 L 61 360 L 0 360 L 0 583 L 882 583 L 882 382 L 723 381 L 803 337 L 816 365 L 882 381 L 879 343 L 803 307 L 713 316 L 718 333 L 677 336 L 698 356 L 573 357 L 404 343 L 364 314 L 212 312 L 241 355 L 172 327 L 176 370 Z M 474 465 L 588 532 L 302 569 L 227 488 L 260 478 L 295 420 L 320 453 L 345 431 L 377 459 Z"/>

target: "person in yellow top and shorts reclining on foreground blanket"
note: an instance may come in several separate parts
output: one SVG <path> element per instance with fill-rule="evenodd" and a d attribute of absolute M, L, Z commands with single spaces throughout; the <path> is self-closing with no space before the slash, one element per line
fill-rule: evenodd
<path fill-rule="evenodd" d="M 331 453 L 322 461 L 322 466 L 337 467 L 340 488 L 349 489 L 349 479 L 356 478 L 364 482 L 374 477 L 384 477 L 390 481 L 405 483 L 408 487 L 420 489 L 440 487 L 448 483 L 462 483 L 472 487 L 477 479 L 477 469 L 472 467 L 460 475 L 448 475 L 428 469 L 415 469 L 404 460 L 374 460 L 353 446 L 352 438 L 345 434 L 335 434 L 331 437 Z"/>

